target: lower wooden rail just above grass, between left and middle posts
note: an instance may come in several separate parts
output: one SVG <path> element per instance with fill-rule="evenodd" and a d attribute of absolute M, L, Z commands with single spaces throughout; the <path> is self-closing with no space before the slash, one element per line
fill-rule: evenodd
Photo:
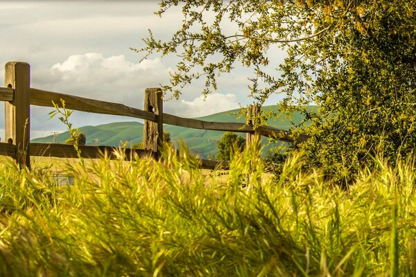
<path fill-rule="evenodd" d="M 80 145 L 81 157 L 85 159 L 100 159 L 103 154 L 106 153 L 110 159 L 118 159 L 115 152 L 119 151 L 119 148 L 111 146 L 89 146 Z M 41 157 L 58 157 L 58 158 L 78 158 L 78 155 L 73 149 L 73 145 L 60 144 L 60 143 L 31 143 L 31 156 Z M 138 157 L 150 157 L 153 156 L 153 152 L 141 149 L 125 149 L 126 159 L 131 159 L 133 154 L 137 154 Z"/>

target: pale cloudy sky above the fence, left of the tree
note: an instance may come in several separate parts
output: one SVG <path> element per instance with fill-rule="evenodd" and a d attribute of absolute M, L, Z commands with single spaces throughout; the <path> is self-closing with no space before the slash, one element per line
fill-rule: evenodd
<path fill-rule="evenodd" d="M 4 64 L 31 64 L 31 86 L 87 98 L 121 102 L 142 108 L 144 89 L 166 83 L 174 68 L 172 57 L 150 57 L 130 47 L 144 46 L 141 39 L 152 29 L 155 37 L 167 39 L 181 24 L 180 10 L 162 19 L 153 15 L 157 1 L 0 1 L 0 86 Z M 252 102 L 248 98 L 250 73 L 238 71 L 219 80 L 218 91 L 202 98 L 203 87 L 192 84 L 180 100 L 168 100 L 164 111 L 177 116 L 197 117 L 234 109 Z M 275 98 L 268 104 L 275 104 Z M 0 103 L 0 138 L 4 138 L 4 108 Z M 48 120 L 51 109 L 31 108 L 31 136 L 62 132 L 58 120 Z M 98 125 L 121 120 L 74 112 L 75 126 Z"/>

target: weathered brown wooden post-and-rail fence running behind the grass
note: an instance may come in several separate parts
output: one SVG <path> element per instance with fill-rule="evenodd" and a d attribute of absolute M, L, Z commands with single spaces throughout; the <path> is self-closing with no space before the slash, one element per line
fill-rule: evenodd
<path fill-rule="evenodd" d="M 244 132 L 247 142 L 252 143 L 254 136 L 273 136 L 280 141 L 293 142 L 291 132 L 272 127 L 259 127 L 254 129 L 252 124 L 218 123 L 191 118 L 182 118 L 163 113 L 162 91 L 160 89 L 146 89 L 144 109 L 128 107 L 114 102 L 105 102 L 71 96 L 64 93 L 45 91 L 31 87 L 30 66 L 26 62 L 8 62 L 5 71 L 5 87 L 0 87 L 0 101 L 5 106 L 5 132 L 6 143 L 0 143 L 0 154 L 13 157 L 19 166 L 30 168 L 31 156 L 46 157 L 77 157 L 72 145 L 59 143 L 31 143 L 31 105 L 53 107 L 53 102 L 65 101 L 67 109 L 87 111 L 95 114 L 112 114 L 117 116 L 130 116 L 144 119 L 144 149 L 127 149 L 126 156 L 139 157 L 153 156 L 159 158 L 162 149 L 163 124 L 229 132 Z M 248 109 L 248 116 L 255 118 L 255 109 Z M 160 135 L 159 135 L 160 134 Z M 304 141 L 307 136 L 297 136 L 298 141 Z M 114 151 L 118 148 L 110 146 L 80 147 L 81 155 L 85 158 L 99 158 L 106 153 L 115 158 Z M 227 167 L 227 161 L 209 161 L 201 159 L 202 168 Z"/>

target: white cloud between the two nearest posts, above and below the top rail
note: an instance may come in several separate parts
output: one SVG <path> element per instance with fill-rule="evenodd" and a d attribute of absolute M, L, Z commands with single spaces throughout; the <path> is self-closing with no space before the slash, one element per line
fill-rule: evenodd
<path fill-rule="evenodd" d="M 158 87 L 160 82 L 166 82 L 168 70 L 158 58 L 135 63 L 126 60 L 124 55 L 105 57 L 102 53 L 85 53 L 71 55 L 49 69 L 32 69 L 31 83 L 38 89 L 119 102 L 141 109 L 146 87 Z M 46 129 L 64 129 L 56 118 L 48 120 L 51 108 L 32 107 L 31 110 L 33 137 L 44 134 Z M 75 127 L 126 120 L 137 119 L 78 111 L 70 118 Z"/>

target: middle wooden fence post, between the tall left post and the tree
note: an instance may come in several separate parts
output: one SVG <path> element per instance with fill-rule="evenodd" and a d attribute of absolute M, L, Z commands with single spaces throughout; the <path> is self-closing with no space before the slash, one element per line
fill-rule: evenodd
<path fill-rule="evenodd" d="M 151 88 L 144 92 L 144 110 L 153 111 L 156 122 L 144 120 L 143 146 L 156 153 L 159 159 L 163 147 L 163 100 L 162 89 Z"/>

